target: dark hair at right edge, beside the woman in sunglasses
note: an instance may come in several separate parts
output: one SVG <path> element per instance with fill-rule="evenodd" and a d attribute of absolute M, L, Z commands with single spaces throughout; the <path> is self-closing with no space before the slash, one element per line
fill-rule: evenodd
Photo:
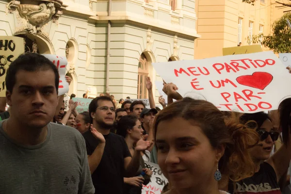
<path fill-rule="evenodd" d="M 291 98 L 283 100 L 279 105 L 280 124 L 282 131 L 283 145 L 288 145 L 290 141 L 291 130 Z"/>

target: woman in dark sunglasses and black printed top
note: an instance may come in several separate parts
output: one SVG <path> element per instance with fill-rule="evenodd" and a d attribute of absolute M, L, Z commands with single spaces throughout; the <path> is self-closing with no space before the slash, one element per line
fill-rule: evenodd
<path fill-rule="evenodd" d="M 257 146 L 249 149 L 256 173 L 252 177 L 235 184 L 230 183 L 228 185 L 229 192 L 234 194 L 281 194 L 278 180 L 287 171 L 290 157 L 284 158 L 285 147 L 280 148 L 270 157 L 275 141 L 279 137 L 279 132 L 274 129 L 272 120 L 264 112 L 243 114 L 240 122 L 255 129 L 260 137 Z M 287 165 L 284 165 L 285 163 Z"/>

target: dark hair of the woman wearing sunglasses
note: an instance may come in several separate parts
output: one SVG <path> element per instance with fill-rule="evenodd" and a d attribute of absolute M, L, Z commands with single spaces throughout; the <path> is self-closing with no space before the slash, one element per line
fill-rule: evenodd
<path fill-rule="evenodd" d="M 240 117 L 240 123 L 247 125 L 251 129 L 259 129 L 261 128 L 262 124 L 267 120 L 272 119 L 269 117 L 267 113 L 264 112 L 257 112 L 257 113 L 244 113 Z M 255 121 L 255 122 L 252 122 Z"/>

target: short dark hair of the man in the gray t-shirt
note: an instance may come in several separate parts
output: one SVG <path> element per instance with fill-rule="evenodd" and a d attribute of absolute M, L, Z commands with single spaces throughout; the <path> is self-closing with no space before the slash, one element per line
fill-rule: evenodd
<path fill-rule="evenodd" d="M 7 69 L 5 77 L 6 89 L 12 93 L 16 83 L 16 74 L 19 70 L 27 72 L 52 70 L 55 75 L 55 87 L 58 93 L 59 72 L 57 67 L 45 56 L 38 53 L 24 53 L 14 60 Z"/>

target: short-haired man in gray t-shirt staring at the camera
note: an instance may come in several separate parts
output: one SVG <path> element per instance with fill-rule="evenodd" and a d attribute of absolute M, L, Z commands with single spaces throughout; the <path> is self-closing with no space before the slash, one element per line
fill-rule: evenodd
<path fill-rule="evenodd" d="M 58 104 L 56 66 L 26 53 L 5 83 L 11 116 L 0 121 L 0 194 L 94 194 L 81 134 L 49 122 Z"/>

